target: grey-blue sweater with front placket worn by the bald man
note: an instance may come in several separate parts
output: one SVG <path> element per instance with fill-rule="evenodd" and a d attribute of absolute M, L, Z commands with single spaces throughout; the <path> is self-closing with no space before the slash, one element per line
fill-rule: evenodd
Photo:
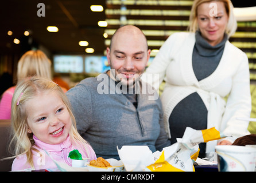
<path fill-rule="evenodd" d="M 152 152 L 170 145 L 160 98 L 149 100 L 149 94 L 139 91 L 135 108 L 113 79 L 102 73 L 83 79 L 66 93 L 77 130 L 97 157 L 119 160 L 117 146 L 123 145 L 146 145 Z"/>

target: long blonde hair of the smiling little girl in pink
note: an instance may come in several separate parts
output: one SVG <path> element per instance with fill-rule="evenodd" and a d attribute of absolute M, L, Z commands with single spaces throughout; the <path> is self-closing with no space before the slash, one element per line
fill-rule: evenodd
<path fill-rule="evenodd" d="M 69 137 L 73 145 L 78 145 L 86 150 L 87 156 L 91 158 L 91 154 L 86 148 L 88 142 L 84 140 L 76 129 L 76 121 L 71 110 L 71 104 L 63 90 L 54 83 L 51 79 L 42 77 L 30 77 L 22 79 L 18 82 L 15 88 L 13 99 L 11 102 L 11 126 L 13 130 L 13 138 L 11 139 L 10 147 L 15 147 L 15 157 L 26 154 L 28 163 L 34 169 L 32 150 L 34 145 L 33 134 L 28 133 L 27 112 L 24 104 L 37 95 L 38 92 L 57 92 L 63 103 L 67 106 L 70 114 L 72 125 L 69 132 Z M 23 94 L 21 94 L 23 93 Z M 18 102 L 18 103 L 17 103 Z M 14 144 L 14 145 L 12 145 Z M 84 144 L 84 146 L 82 145 Z"/>

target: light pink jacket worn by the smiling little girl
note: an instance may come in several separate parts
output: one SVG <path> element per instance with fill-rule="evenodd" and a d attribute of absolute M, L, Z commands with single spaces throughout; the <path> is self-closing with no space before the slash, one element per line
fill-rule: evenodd
<path fill-rule="evenodd" d="M 35 142 L 35 145 L 33 145 L 33 147 L 39 151 L 39 152 L 36 152 L 34 150 L 32 151 L 34 168 L 36 170 L 57 168 L 55 163 L 52 161 L 51 157 L 49 157 L 44 152 L 43 149 L 45 149 L 52 156 L 53 160 L 58 162 L 64 162 L 69 166 L 72 166 L 72 160 L 68 158 L 68 154 L 74 149 L 79 150 L 83 158 L 90 158 L 89 161 L 96 160 L 95 152 L 90 145 L 86 145 L 87 150 L 90 153 L 90 155 L 88 156 L 83 149 L 75 147 L 71 144 L 69 136 L 64 142 L 61 142 L 61 144 L 55 144 L 55 145 L 41 142 L 40 140 L 38 140 L 36 136 L 33 136 L 33 139 Z M 14 159 L 11 170 L 17 171 L 17 170 L 24 170 L 29 168 L 31 167 L 27 163 L 26 154 L 23 154 Z"/>

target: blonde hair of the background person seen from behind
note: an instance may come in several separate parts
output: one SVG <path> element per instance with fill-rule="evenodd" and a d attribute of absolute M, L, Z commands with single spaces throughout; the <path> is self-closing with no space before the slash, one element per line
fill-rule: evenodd
<path fill-rule="evenodd" d="M 17 79 L 34 75 L 52 78 L 51 65 L 52 62 L 41 50 L 27 51 L 18 61 Z"/>

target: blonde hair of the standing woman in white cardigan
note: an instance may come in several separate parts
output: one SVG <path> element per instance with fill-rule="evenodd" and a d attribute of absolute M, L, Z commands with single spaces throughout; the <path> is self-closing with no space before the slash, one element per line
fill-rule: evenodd
<path fill-rule="evenodd" d="M 201 5 L 201 3 L 207 3 L 207 2 L 223 2 L 227 15 L 228 15 L 228 22 L 226 27 L 226 33 L 228 35 L 228 38 L 231 37 L 236 31 L 237 28 L 237 22 L 234 15 L 234 6 L 232 5 L 232 2 L 230 0 L 195 0 L 192 5 L 191 14 L 189 16 L 189 26 L 188 30 L 195 33 L 196 30 L 198 30 L 198 23 L 197 23 L 197 7 Z"/>

